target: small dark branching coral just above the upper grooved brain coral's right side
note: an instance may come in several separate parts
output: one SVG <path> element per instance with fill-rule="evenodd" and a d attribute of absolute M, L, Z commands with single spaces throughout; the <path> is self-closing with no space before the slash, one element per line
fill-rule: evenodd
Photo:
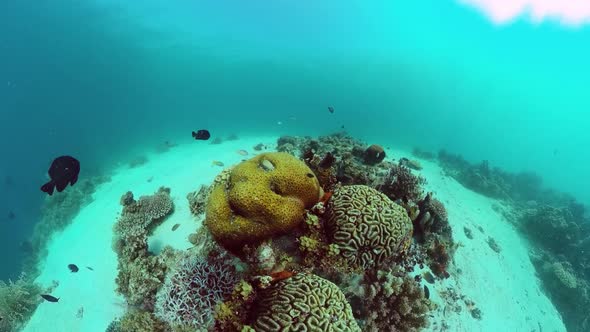
<path fill-rule="evenodd" d="M 426 184 L 426 179 L 412 174 L 409 168 L 402 165 L 392 165 L 378 186 L 378 190 L 394 201 L 418 202 L 422 198 L 424 184 Z"/>

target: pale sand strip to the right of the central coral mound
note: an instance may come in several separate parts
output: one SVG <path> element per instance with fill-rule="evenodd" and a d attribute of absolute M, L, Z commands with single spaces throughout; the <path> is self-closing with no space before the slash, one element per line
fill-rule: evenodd
<path fill-rule="evenodd" d="M 412 157 L 402 151 L 391 151 L 395 158 Z M 495 200 L 464 188 L 452 177 L 443 174 L 432 162 L 420 160 L 420 172 L 427 179 L 426 190 L 447 208 L 453 237 L 461 246 L 455 253 L 451 278 L 435 285 L 428 284 L 431 299 L 440 304 L 434 321 L 444 321 L 447 331 L 566 331 L 560 315 L 543 294 L 529 260 L 528 249 L 514 227 L 492 210 Z M 481 226 L 483 233 L 478 230 Z M 471 229 L 473 239 L 467 238 L 463 227 Z M 493 251 L 487 243 L 495 239 L 501 248 Z M 457 273 L 457 269 L 461 273 Z M 446 309 L 438 292 L 453 287 L 457 293 L 475 302 L 482 319 L 474 319 L 460 300 L 461 312 Z M 429 330 L 442 331 L 440 324 Z"/>

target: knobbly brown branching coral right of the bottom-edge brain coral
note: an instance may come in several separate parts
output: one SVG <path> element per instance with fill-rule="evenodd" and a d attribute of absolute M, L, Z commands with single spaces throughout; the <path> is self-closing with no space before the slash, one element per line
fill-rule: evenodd
<path fill-rule="evenodd" d="M 398 266 L 370 270 L 362 281 L 365 331 L 420 331 L 428 327 L 434 305 L 424 290 Z"/>

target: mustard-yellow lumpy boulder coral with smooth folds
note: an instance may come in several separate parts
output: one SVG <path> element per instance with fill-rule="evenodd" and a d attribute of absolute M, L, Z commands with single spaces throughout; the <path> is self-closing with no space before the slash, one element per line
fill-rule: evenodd
<path fill-rule="evenodd" d="M 321 197 L 319 182 L 299 159 L 263 153 L 236 165 L 214 184 L 205 225 L 229 250 L 285 234 L 302 221 Z"/>

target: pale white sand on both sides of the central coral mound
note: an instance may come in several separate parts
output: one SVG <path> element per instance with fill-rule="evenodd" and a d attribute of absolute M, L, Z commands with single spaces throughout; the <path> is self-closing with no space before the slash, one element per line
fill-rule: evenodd
<path fill-rule="evenodd" d="M 252 147 L 261 142 L 274 147 L 276 137 L 242 138 L 219 145 L 191 142 L 162 154 L 152 154 L 148 163 L 140 167 L 117 170 L 111 182 L 99 186 L 94 201 L 50 242 L 49 255 L 37 281 L 44 286 L 59 281 L 52 294 L 60 300 L 42 303 L 24 331 L 104 332 L 125 310 L 124 299 L 115 293 L 117 259 L 111 249 L 112 226 L 121 211 L 121 195 L 131 190 L 137 198 L 154 193 L 160 186 L 170 187 L 175 212 L 150 238 L 150 250 L 158 252 L 164 245 L 186 249 L 190 246 L 188 234 L 201 223 L 190 214 L 186 195 L 202 184 L 210 184 L 221 171 L 222 167 L 211 164 L 213 160 L 230 166 L 247 158 L 236 153 L 237 150 L 245 149 L 252 156 L 255 152 Z M 409 156 L 400 151 L 389 152 L 396 158 Z M 421 173 L 428 179 L 427 189 L 434 191 L 446 205 L 455 239 L 464 245 L 455 255 L 456 266 L 462 270 L 457 275 L 458 282 L 454 281 L 456 272 L 451 270 L 453 278 L 430 286 L 431 298 L 441 304 L 435 320 L 444 318 L 448 331 L 529 332 L 539 331 L 539 326 L 543 331 L 565 331 L 555 308 L 537 285 L 525 245 L 512 226 L 491 209 L 493 200 L 445 177 L 436 164 L 423 161 L 423 166 Z M 177 223 L 180 227 L 173 232 L 171 228 Z M 473 240 L 466 238 L 463 226 L 471 228 Z M 490 249 L 485 241 L 488 236 L 501 246 L 500 254 Z M 67 268 L 70 263 L 77 264 L 80 272 L 70 273 Z M 473 300 L 483 318 L 472 318 L 464 304 L 461 313 L 447 309 L 443 317 L 444 303 L 438 291 L 447 286 L 455 287 Z M 82 318 L 76 317 L 80 308 L 84 310 Z M 439 331 L 440 325 L 435 324 L 430 330 Z"/>

